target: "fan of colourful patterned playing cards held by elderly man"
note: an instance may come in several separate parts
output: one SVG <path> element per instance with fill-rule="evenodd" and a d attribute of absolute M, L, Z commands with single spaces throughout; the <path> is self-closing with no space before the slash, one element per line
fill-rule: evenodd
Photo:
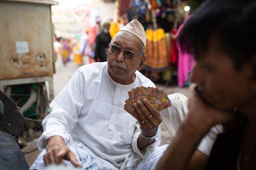
<path fill-rule="evenodd" d="M 129 113 L 131 113 L 133 104 L 138 100 L 142 100 L 143 98 L 150 101 L 159 111 L 172 106 L 167 94 L 158 88 L 141 86 L 128 91 L 128 94 L 129 99 L 125 101 L 124 110 Z"/>

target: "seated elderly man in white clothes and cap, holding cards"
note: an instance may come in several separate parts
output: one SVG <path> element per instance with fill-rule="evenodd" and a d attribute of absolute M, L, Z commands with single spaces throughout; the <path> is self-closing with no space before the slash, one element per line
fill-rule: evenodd
<path fill-rule="evenodd" d="M 83 169 L 153 169 L 163 153 L 155 150 L 160 113 L 147 100 L 134 105 L 131 114 L 140 114 L 138 119 L 123 109 L 132 88 L 155 87 L 138 71 L 146 59 L 145 45 L 142 25 L 132 20 L 109 44 L 107 62 L 76 71 L 42 122 L 38 148 L 46 150 L 30 169 L 63 161 Z"/>

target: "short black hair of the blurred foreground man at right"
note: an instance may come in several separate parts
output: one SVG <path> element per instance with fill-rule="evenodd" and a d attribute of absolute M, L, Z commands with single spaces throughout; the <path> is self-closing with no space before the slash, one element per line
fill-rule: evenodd
<path fill-rule="evenodd" d="M 256 54 L 256 1 L 209 0 L 184 23 L 178 43 L 195 59 L 206 51 L 212 35 L 217 35 L 221 51 L 239 70 Z"/>

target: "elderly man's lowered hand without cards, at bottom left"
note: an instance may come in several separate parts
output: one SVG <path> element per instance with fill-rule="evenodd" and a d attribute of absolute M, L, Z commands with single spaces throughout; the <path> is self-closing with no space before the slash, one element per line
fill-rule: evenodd
<path fill-rule="evenodd" d="M 71 161 L 75 167 L 82 167 L 77 161 L 76 156 L 67 147 L 64 139 L 61 136 L 52 136 L 48 139 L 46 146 L 47 153 L 44 155 L 45 165 L 52 163 L 62 164 L 63 159 Z"/>

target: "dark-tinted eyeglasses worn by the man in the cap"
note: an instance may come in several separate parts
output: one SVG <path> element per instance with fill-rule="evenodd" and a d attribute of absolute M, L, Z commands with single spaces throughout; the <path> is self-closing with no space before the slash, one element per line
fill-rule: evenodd
<path fill-rule="evenodd" d="M 132 60 L 134 57 L 142 54 L 142 53 L 135 53 L 131 50 L 123 50 L 120 46 L 110 43 L 110 52 L 114 55 L 118 55 L 121 51 L 123 51 L 123 56 L 126 60 Z"/>

